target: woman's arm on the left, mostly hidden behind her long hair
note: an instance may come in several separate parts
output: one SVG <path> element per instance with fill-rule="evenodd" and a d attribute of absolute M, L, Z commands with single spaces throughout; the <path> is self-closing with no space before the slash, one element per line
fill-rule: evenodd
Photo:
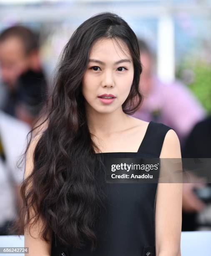
<path fill-rule="evenodd" d="M 31 141 L 30 146 L 28 148 L 28 152 L 26 155 L 26 164 L 25 164 L 25 175 L 24 177 L 28 177 L 28 175 L 33 170 L 33 151 L 39 140 L 40 136 L 36 136 L 33 141 Z M 32 211 L 31 211 L 32 212 Z M 51 243 L 47 243 L 44 240 L 38 238 L 39 230 L 42 227 L 43 222 L 39 220 L 36 225 L 30 228 L 30 233 L 33 236 L 30 236 L 28 232 L 28 228 L 25 228 L 24 231 L 24 246 L 29 247 L 30 256 L 50 256 L 50 247 Z M 48 233 L 48 238 L 51 238 L 50 232 Z M 28 254 L 25 254 L 27 256 Z"/>

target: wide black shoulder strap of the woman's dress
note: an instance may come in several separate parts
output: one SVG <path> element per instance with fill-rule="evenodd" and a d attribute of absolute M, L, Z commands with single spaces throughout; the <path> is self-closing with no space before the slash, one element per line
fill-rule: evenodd
<path fill-rule="evenodd" d="M 138 148 L 138 153 L 147 154 L 159 158 L 164 138 L 166 136 L 166 133 L 170 129 L 172 128 L 164 125 L 163 123 L 156 123 L 154 121 L 151 121 L 148 124 L 148 128 L 146 130 L 143 141 Z"/>

